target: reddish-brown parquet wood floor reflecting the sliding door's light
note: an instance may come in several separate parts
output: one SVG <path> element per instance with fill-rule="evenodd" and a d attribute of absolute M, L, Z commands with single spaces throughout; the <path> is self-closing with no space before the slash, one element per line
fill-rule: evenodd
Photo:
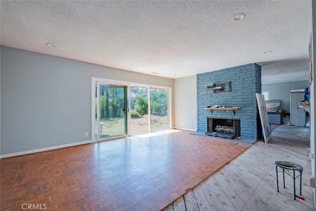
<path fill-rule="evenodd" d="M 161 210 L 250 146 L 167 130 L 1 159 L 0 210 Z"/>

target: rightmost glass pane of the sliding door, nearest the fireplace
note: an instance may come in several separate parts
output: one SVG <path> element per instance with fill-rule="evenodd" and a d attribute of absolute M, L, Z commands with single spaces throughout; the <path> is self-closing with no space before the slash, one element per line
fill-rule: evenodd
<path fill-rule="evenodd" d="M 168 91 L 151 88 L 150 102 L 151 130 L 168 128 Z"/>

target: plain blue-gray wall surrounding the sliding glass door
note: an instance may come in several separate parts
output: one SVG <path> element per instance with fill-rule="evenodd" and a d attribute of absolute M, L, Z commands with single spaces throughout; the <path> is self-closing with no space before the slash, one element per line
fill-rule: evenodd
<path fill-rule="evenodd" d="M 173 87 L 172 79 L 1 46 L 0 154 L 91 140 L 91 75 Z"/>

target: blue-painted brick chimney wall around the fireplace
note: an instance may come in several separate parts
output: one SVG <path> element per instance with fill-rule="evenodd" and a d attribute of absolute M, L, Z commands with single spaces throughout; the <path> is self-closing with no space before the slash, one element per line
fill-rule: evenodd
<path fill-rule="evenodd" d="M 212 93 L 205 86 L 231 82 L 230 92 Z M 207 131 L 207 117 L 240 119 L 240 137 L 257 140 L 262 137 L 256 93 L 261 93 L 261 67 L 255 63 L 197 75 L 197 131 Z M 211 105 L 240 107 L 232 110 L 205 110 Z"/>

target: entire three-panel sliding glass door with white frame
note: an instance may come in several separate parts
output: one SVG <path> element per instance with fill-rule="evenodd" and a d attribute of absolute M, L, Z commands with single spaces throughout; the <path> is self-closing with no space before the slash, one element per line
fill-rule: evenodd
<path fill-rule="evenodd" d="M 92 78 L 92 141 L 169 128 L 169 88 Z"/>

